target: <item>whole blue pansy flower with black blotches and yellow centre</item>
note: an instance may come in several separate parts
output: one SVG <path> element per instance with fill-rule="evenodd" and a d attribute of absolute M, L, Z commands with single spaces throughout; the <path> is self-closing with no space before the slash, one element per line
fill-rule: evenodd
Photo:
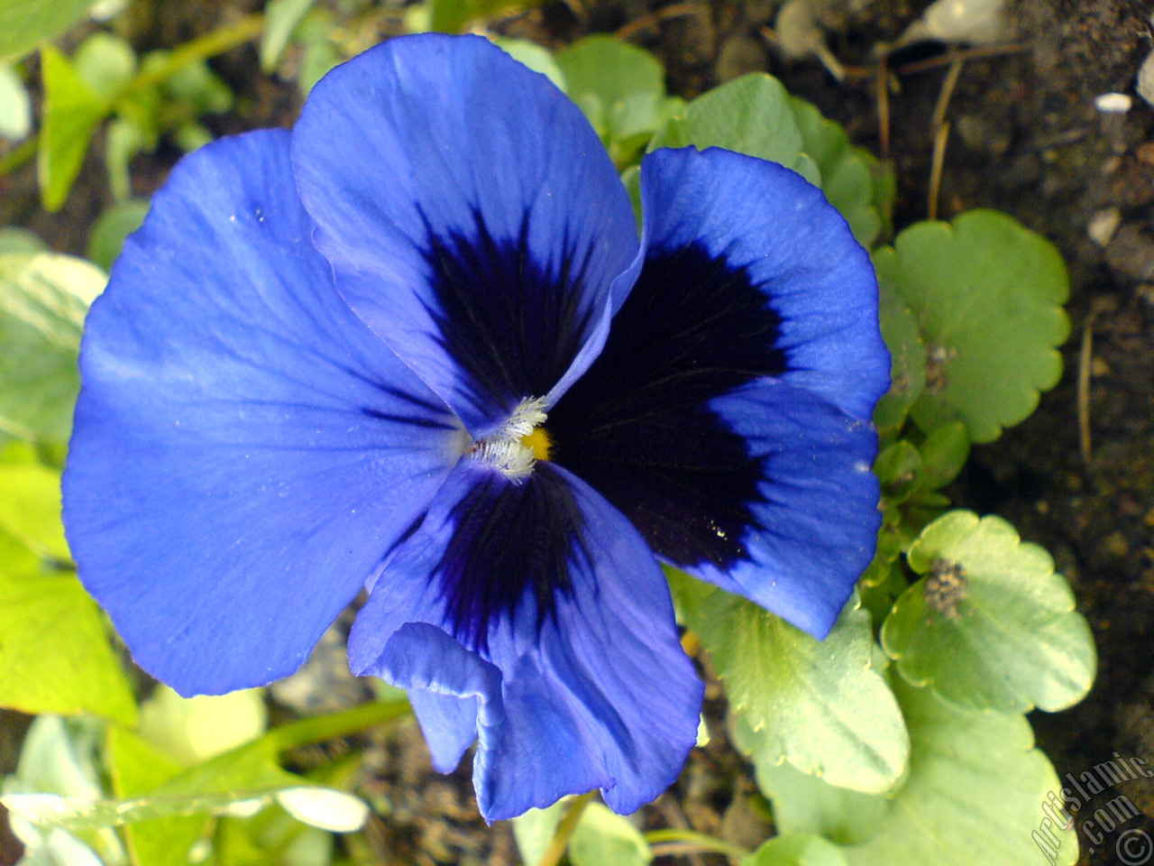
<path fill-rule="evenodd" d="M 358 673 L 489 820 L 692 747 L 668 562 L 822 636 L 878 528 L 877 288 L 822 193 L 658 150 L 644 231 L 580 112 L 479 37 L 336 68 L 292 130 L 182 160 L 92 306 L 80 575 L 178 692 Z"/>

